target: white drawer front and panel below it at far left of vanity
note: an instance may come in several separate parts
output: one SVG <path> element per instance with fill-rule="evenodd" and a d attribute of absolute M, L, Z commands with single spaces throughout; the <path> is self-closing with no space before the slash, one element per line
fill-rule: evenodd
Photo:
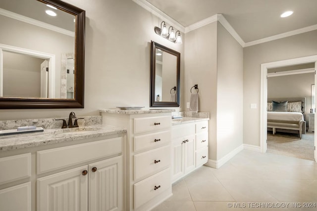
<path fill-rule="evenodd" d="M 8 184 L 0 189 L 0 210 L 31 211 L 31 153 L 0 158 L 0 169 L 0 184 Z"/>

